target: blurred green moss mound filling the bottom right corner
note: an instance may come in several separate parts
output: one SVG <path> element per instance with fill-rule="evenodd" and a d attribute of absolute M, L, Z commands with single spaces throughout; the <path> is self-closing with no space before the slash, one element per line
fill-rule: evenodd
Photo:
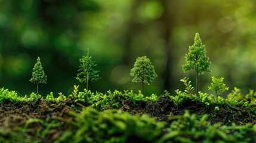
<path fill-rule="evenodd" d="M 204 115 L 198 120 L 195 114 L 190 115 L 188 111 L 183 116 L 169 117 L 171 125 L 159 142 L 253 142 L 256 139 L 256 130 L 252 125 L 211 125 L 206 121 L 207 117 Z"/>

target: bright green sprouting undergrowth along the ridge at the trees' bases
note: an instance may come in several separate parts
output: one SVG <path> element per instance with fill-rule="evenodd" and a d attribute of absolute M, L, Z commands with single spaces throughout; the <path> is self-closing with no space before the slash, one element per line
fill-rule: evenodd
<path fill-rule="evenodd" d="M 184 101 L 197 101 L 205 105 L 208 108 L 209 105 L 215 105 L 216 110 L 222 105 L 228 105 L 229 107 L 251 107 L 255 111 L 256 107 L 256 91 L 250 90 L 249 94 L 242 95 L 240 89 L 234 88 L 232 92 L 227 96 L 227 98 L 218 97 L 218 102 L 216 102 L 214 95 L 209 95 L 203 92 L 199 92 L 199 98 L 195 94 L 188 94 L 186 91 L 175 91 L 175 95 L 170 95 L 168 91 L 165 91 L 164 95 L 168 95 L 175 104 L 182 104 Z M 145 97 L 139 91 L 135 94 L 133 91 L 107 91 L 106 94 L 100 92 L 91 92 L 90 90 L 84 89 L 83 92 L 78 92 L 78 86 L 75 86 L 74 92 L 67 97 L 62 93 L 58 93 L 57 96 L 50 92 L 46 97 L 39 95 L 39 98 L 46 100 L 48 102 L 64 102 L 66 100 L 72 100 L 73 104 L 76 103 L 87 103 L 92 108 L 97 108 L 98 110 L 106 108 L 118 108 L 119 104 L 130 99 L 133 105 L 138 105 L 140 102 L 156 102 L 158 96 L 155 94 Z M 30 95 L 25 95 L 20 97 L 15 91 L 9 91 L 8 89 L 0 89 L 0 103 L 5 101 L 10 102 L 24 102 L 30 101 L 35 102 L 37 100 L 37 95 L 32 92 Z M 234 107 L 234 108 L 235 108 Z M 256 111 L 255 111 L 256 113 Z"/>

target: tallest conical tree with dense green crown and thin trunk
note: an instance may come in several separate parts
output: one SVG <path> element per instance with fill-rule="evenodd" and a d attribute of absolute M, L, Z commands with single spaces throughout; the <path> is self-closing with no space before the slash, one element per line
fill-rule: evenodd
<path fill-rule="evenodd" d="M 195 42 L 193 46 L 189 46 L 189 53 L 185 55 L 186 64 L 182 67 L 186 73 L 189 70 L 196 71 L 196 96 L 198 95 L 198 76 L 205 71 L 210 72 L 211 62 L 206 57 L 205 45 L 203 45 L 199 33 L 195 35 Z"/>

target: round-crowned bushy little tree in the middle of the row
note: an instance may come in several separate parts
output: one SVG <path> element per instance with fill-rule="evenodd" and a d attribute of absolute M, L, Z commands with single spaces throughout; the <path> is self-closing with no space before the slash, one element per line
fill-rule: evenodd
<path fill-rule="evenodd" d="M 154 66 L 152 66 L 149 58 L 146 56 L 137 58 L 134 68 L 131 69 L 131 76 L 134 77 L 132 82 L 142 82 L 143 95 L 144 83 L 149 85 L 156 77 L 158 77 L 158 75 L 155 73 Z"/>

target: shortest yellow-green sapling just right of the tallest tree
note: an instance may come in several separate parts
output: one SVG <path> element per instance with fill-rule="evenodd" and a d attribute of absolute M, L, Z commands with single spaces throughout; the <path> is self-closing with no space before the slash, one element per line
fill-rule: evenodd
<path fill-rule="evenodd" d="M 211 86 L 208 87 L 209 90 L 212 90 L 216 93 L 216 102 L 218 102 L 218 95 L 220 95 L 221 92 L 229 90 L 226 84 L 223 83 L 223 80 L 223 77 L 220 77 L 220 79 L 216 79 L 214 76 L 212 76 Z"/>

